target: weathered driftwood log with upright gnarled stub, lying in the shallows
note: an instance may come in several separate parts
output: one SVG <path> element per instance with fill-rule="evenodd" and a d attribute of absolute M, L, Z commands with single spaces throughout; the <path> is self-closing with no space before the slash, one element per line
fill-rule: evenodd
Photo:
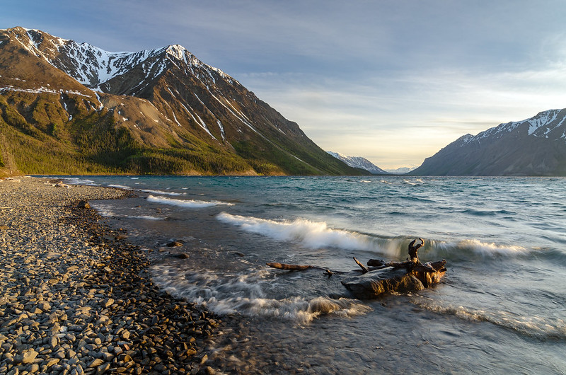
<path fill-rule="evenodd" d="M 368 268 L 354 257 L 354 262 L 362 269 L 362 275 L 347 277 L 341 281 L 342 285 L 358 299 L 374 299 L 383 294 L 415 292 L 437 284 L 446 273 L 446 267 L 444 267 L 446 260 L 422 264 L 419 260 L 418 250 L 424 246 L 424 240 L 422 238 L 419 238 L 419 240 L 420 243 L 413 240 L 409 244 L 409 258 L 404 262 L 385 262 L 370 259 L 367 262 Z M 267 263 L 267 265 L 279 270 L 303 271 L 314 268 L 325 270 L 328 275 L 344 273 L 312 265 L 287 265 L 284 263 Z"/>

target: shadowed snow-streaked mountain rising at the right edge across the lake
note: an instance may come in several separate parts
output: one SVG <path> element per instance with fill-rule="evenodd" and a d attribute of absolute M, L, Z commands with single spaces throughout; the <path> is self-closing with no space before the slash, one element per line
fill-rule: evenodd
<path fill-rule="evenodd" d="M 466 134 L 410 174 L 566 175 L 566 109 Z"/>

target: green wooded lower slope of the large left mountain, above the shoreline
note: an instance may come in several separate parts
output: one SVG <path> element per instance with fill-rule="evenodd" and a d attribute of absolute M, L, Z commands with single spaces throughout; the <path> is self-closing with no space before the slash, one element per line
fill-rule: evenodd
<path fill-rule="evenodd" d="M 183 132 L 182 142 L 171 138 L 170 146 L 158 148 L 137 142 L 129 129 L 116 124 L 112 111 L 93 110 L 79 95 L 67 93 L 63 99 L 56 93 L 6 91 L 0 95 L 1 173 L 343 174 L 334 158 L 315 160 L 318 156 L 306 146 L 284 137 L 272 143 L 258 139 L 234 142 L 235 152 L 230 152 Z M 291 156 L 291 149 L 306 163 Z M 352 174 L 359 171 L 352 170 Z"/>

